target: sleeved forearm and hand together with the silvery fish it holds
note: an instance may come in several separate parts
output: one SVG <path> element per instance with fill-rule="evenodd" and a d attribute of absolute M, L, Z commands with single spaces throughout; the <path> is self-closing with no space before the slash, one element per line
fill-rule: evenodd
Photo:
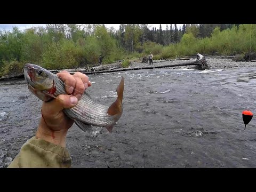
<path fill-rule="evenodd" d="M 55 75 L 30 63 L 25 65 L 23 72 L 28 89 L 44 101 L 42 117 L 36 137 L 21 147 L 9 167 L 70 167 L 66 135 L 73 123 L 84 132 L 98 126 L 106 127 L 111 133 L 122 116 L 124 77 L 116 88 L 117 99 L 105 106 L 87 93 L 91 82 L 82 73 L 70 75 L 62 71 Z"/>

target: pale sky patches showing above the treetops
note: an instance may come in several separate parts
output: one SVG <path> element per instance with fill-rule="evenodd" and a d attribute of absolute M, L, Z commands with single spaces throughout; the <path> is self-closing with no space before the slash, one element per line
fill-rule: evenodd
<path fill-rule="evenodd" d="M 161 24 L 162 29 L 166 29 L 166 24 Z M 167 24 L 170 29 L 170 24 Z M 183 24 L 177 24 L 177 27 L 182 27 Z M 12 27 L 17 26 L 20 30 L 28 29 L 30 27 L 37 27 L 37 26 L 43 26 L 45 27 L 45 24 L 0 24 L 0 30 L 12 30 Z M 119 24 L 105 24 L 107 28 L 114 27 L 115 29 L 119 29 Z M 152 27 L 156 27 L 156 29 L 159 29 L 160 24 L 148 24 L 149 28 L 152 29 Z M 174 25 L 172 26 L 174 28 Z"/>

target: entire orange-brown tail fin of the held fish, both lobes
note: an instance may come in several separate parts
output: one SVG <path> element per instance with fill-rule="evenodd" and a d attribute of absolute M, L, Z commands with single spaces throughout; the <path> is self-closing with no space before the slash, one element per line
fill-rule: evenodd
<path fill-rule="evenodd" d="M 108 108 L 108 115 L 113 116 L 115 119 L 115 122 L 118 121 L 118 119 L 121 117 L 121 115 L 123 113 L 123 103 L 122 102 L 123 102 L 123 93 L 124 93 L 124 77 L 122 77 L 121 82 L 117 86 L 116 92 L 117 92 L 117 99 Z M 112 132 L 114 123 L 106 126 L 107 130 L 110 133 Z"/>

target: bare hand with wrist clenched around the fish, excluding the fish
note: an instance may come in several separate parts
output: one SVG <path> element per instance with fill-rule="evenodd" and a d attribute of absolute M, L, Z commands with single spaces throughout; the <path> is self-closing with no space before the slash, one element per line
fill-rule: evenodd
<path fill-rule="evenodd" d="M 61 77 L 66 85 L 66 93 L 57 96 L 42 106 L 42 117 L 36 132 L 36 137 L 46 141 L 66 146 L 66 135 L 74 120 L 68 118 L 63 109 L 74 107 L 82 98 L 82 93 L 91 86 L 89 78 L 82 73 L 76 72 L 70 75 L 68 71 L 62 71 L 57 76 Z"/>

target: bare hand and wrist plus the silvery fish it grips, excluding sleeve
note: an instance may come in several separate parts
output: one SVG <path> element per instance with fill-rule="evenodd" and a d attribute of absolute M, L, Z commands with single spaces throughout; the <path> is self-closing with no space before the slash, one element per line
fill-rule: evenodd
<path fill-rule="evenodd" d="M 91 131 L 92 126 L 98 126 L 106 127 L 111 133 L 115 123 L 122 115 L 123 77 L 116 88 L 116 101 L 110 106 L 105 106 L 95 102 L 85 91 L 88 86 L 91 86 L 91 82 L 82 73 L 70 75 L 67 71 L 63 71 L 55 75 L 30 63 L 27 63 L 23 70 L 28 89 L 36 97 L 45 101 L 37 135 L 43 134 L 44 137 L 54 143 L 65 145 L 65 140 L 62 141 L 59 138 L 66 136 L 68 129 L 73 125 L 73 121 L 85 132 Z"/>

